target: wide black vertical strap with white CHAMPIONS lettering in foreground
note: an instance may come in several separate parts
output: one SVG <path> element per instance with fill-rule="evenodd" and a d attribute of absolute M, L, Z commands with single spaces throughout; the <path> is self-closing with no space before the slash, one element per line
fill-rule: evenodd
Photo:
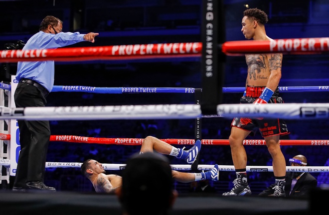
<path fill-rule="evenodd" d="M 222 102 L 224 63 L 226 55 L 217 44 L 225 42 L 225 19 L 223 0 L 202 1 L 202 114 L 217 114 Z"/>

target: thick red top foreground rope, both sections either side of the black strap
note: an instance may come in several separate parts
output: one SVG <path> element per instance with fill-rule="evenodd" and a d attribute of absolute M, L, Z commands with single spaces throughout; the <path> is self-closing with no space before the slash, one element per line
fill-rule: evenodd
<path fill-rule="evenodd" d="M 282 52 L 289 54 L 321 54 L 329 51 L 329 37 L 275 40 L 228 41 L 221 46 L 226 55 Z M 202 43 L 159 43 L 95 46 L 37 50 L 1 50 L 0 62 L 17 61 L 86 61 L 201 56 Z"/>

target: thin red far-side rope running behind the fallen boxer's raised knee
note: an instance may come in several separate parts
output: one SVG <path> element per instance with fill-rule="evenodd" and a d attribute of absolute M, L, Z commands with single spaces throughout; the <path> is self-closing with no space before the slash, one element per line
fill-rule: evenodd
<path fill-rule="evenodd" d="M 0 133 L 0 140 L 10 140 L 10 134 Z M 83 137 L 74 135 L 51 135 L 50 141 L 76 142 L 76 143 L 97 143 L 117 145 L 142 145 L 143 138 L 101 138 Z M 193 145 L 194 139 L 161 139 L 168 144 Z M 224 139 L 203 139 L 203 145 L 229 145 Z M 243 145 L 266 145 L 265 140 L 244 140 Z M 329 145 L 329 140 L 280 140 L 280 145 Z"/>

